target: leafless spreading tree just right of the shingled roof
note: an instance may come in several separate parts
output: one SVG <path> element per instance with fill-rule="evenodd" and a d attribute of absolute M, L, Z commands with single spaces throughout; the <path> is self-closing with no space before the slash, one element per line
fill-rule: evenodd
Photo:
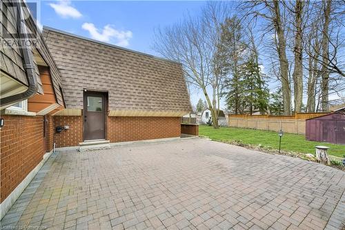
<path fill-rule="evenodd" d="M 216 46 L 220 41 L 221 22 L 228 12 L 224 3 L 209 2 L 200 17 L 187 16 L 180 23 L 156 30 L 153 45 L 164 57 L 181 62 L 186 81 L 203 91 L 214 128 L 218 128 L 223 76 L 218 71 Z M 212 89 L 212 99 L 208 88 Z"/>

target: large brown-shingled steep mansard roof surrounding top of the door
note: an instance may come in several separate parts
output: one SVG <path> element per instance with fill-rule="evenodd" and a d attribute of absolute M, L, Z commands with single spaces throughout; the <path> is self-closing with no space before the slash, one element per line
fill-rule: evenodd
<path fill-rule="evenodd" d="M 82 109 L 88 89 L 107 91 L 110 111 L 189 113 L 181 64 L 53 28 L 43 28 L 43 36 L 61 73 L 66 108 Z"/>

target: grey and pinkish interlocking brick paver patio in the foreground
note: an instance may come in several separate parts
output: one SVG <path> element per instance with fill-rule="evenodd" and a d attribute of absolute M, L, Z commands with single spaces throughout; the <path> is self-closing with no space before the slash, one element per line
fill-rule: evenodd
<path fill-rule="evenodd" d="M 342 229 L 345 173 L 200 139 L 55 153 L 5 227 Z"/>

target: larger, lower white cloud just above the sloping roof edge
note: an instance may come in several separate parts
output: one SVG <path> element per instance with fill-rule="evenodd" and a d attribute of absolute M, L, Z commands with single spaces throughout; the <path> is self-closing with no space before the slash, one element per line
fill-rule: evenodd
<path fill-rule="evenodd" d="M 129 46 L 129 40 L 132 38 L 132 31 L 117 30 L 110 24 L 104 26 L 101 32 L 93 23 L 83 23 L 81 27 L 90 32 L 92 39 L 109 42 L 117 46 Z"/>

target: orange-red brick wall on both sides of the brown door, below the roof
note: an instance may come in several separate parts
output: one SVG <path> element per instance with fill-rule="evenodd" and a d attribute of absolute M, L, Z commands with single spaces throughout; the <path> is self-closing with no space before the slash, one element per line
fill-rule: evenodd
<path fill-rule="evenodd" d="M 106 140 L 130 142 L 181 135 L 180 117 L 107 117 Z M 55 133 L 57 126 L 68 125 L 68 130 Z M 82 116 L 55 116 L 54 138 L 57 148 L 78 146 L 83 142 Z"/>

